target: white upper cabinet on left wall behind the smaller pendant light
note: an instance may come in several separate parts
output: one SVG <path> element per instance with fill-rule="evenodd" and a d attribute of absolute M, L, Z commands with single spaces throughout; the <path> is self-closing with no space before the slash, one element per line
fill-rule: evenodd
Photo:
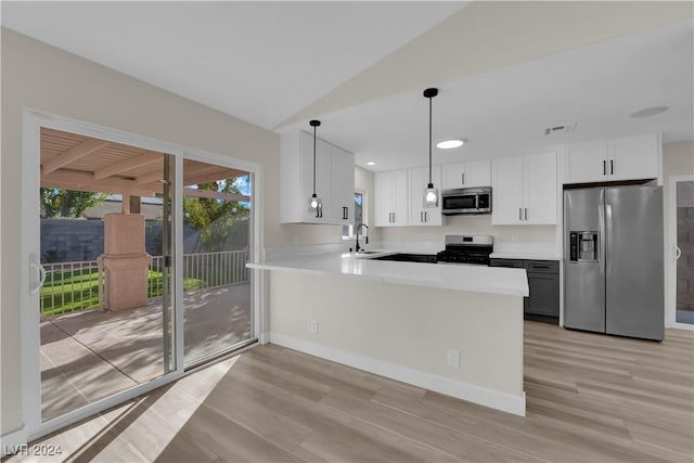
<path fill-rule="evenodd" d="M 309 210 L 313 192 L 313 136 L 301 131 L 282 136 L 280 155 L 280 218 L 282 223 L 349 224 L 354 222 L 355 157 L 316 141 L 316 194 L 319 213 Z"/>

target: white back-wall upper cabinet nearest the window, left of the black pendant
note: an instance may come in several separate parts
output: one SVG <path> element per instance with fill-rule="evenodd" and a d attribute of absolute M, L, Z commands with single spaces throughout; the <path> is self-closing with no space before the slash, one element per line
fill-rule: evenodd
<path fill-rule="evenodd" d="M 394 170 L 374 175 L 375 227 L 408 224 L 408 171 Z"/>

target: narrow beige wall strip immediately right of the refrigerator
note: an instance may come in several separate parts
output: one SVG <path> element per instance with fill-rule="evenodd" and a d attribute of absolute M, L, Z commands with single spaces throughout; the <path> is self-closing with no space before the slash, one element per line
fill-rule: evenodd
<path fill-rule="evenodd" d="M 670 189 L 673 187 L 669 178 L 671 176 L 694 176 L 694 143 L 685 141 L 680 143 L 666 143 L 663 145 L 663 197 L 665 201 L 664 219 L 665 219 L 665 262 L 666 268 L 671 267 L 672 262 L 672 240 L 670 239 Z M 670 270 L 670 269 L 668 269 Z M 673 319 L 674 312 L 674 294 L 673 276 L 666 270 L 665 280 L 665 310 L 666 326 L 669 320 Z"/>

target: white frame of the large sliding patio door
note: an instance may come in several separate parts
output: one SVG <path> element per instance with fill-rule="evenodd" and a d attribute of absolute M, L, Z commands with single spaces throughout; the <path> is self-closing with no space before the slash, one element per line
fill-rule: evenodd
<path fill-rule="evenodd" d="M 99 138 L 117 143 L 139 146 L 146 150 L 171 154 L 175 157 L 176 182 L 174 192 L 174 217 L 175 217 L 175 240 L 176 256 L 175 271 L 177 284 L 172 294 L 172 301 L 176 308 L 175 330 L 176 330 L 176 369 L 147 383 L 134 386 L 123 393 L 118 393 L 105 399 L 90 403 L 80 409 L 68 412 L 64 415 L 41 422 L 41 371 L 40 371 L 40 314 L 39 293 L 31 294 L 30 288 L 38 283 L 38 272 L 29 262 L 40 262 L 40 209 L 39 209 L 39 185 L 40 185 L 40 128 L 51 128 Z M 205 153 L 198 150 L 188 149 L 172 143 L 155 140 L 152 138 L 138 136 L 107 127 L 102 127 L 89 123 L 83 123 L 62 116 L 47 114 L 38 111 L 25 108 L 23 112 L 22 131 L 22 237 L 20 243 L 20 282 L 21 282 L 21 357 L 22 357 L 22 401 L 24 416 L 24 436 L 27 440 L 33 440 L 55 432 L 69 424 L 76 423 L 87 416 L 99 413 L 118 403 L 127 401 L 152 389 L 164 386 L 176 381 L 187 373 L 183 369 L 183 285 L 182 282 L 182 256 L 183 253 L 183 226 L 182 226 L 182 166 L 183 158 L 194 158 L 215 163 L 224 167 L 245 170 L 252 175 L 252 246 L 250 258 L 259 261 L 262 255 L 262 214 L 261 209 L 261 166 L 255 163 L 240 160 L 236 158 Z M 262 304 L 262 293 L 260 291 L 259 271 L 254 271 L 252 279 L 252 310 L 255 316 L 255 333 L 257 337 L 262 332 L 262 320 L 260 318 L 260 307 Z M 255 284 L 254 284 L 255 281 Z M 221 360 L 221 359 L 220 359 Z"/>

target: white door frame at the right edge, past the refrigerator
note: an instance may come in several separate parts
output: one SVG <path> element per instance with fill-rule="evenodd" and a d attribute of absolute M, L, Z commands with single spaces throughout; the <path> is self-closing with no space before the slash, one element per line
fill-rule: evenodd
<path fill-rule="evenodd" d="M 694 324 L 677 322 L 677 182 L 694 181 L 694 175 L 670 176 L 668 177 L 668 198 L 666 206 L 668 210 L 668 237 L 666 245 L 666 267 L 668 274 L 668 285 L 666 288 L 666 312 L 665 324 L 667 327 L 694 331 Z"/>

